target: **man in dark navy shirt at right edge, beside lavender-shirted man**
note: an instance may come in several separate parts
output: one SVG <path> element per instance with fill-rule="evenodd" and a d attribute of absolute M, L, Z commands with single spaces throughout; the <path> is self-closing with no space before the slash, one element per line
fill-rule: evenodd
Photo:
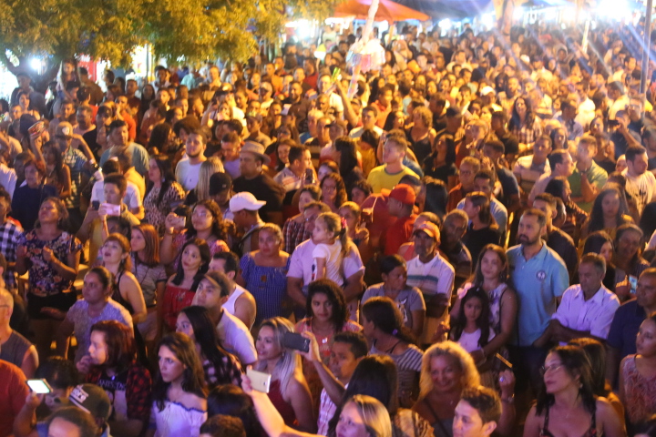
<path fill-rule="evenodd" d="M 656 268 L 645 269 L 638 279 L 636 299 L 623 303 L 610 323 L 606 344 L 606 379 L 614 386 L 620 361 L 636 353 L 636 337 L 642 322 L 656 313 Z"/>

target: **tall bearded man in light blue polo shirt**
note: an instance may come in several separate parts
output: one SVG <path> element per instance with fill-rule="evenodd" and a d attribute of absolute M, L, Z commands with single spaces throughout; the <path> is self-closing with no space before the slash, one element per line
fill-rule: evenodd
<path fill-rule="evenodd" d="M 544 212 L 529 208 L 518 226 L 518 246 L 507 249 L 510 280 L 518 293 L 518 326 L 510 349 L 514 371 L 518 375 L 518 392 L 534 392 L 542 381 L 539 368 L 547 350 L 535 346 L 535 340 L 547 330 L 559 297 L 569 286 L 565 262 L 540 238 L 547 232 Z"/>

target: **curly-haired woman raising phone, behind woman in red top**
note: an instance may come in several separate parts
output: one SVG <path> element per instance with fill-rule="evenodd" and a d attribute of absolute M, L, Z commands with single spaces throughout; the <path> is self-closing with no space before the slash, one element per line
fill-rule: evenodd
<path fill-rule="evenodd" d="M 164 239 L 161 242 L 160 257 L 163 264 L 173 266 L 179 265 L 181 248 L 185 242 L 191 239 L 203 239 L 210 247 L 210 254 L 217 252 L 228 252 L 228 244 L 225 240 L 228 238 L 226 223 L 223 221 L 219 206 L 214 200 L 201 200 L 191 209 L 191 220 L 187 223 L 186 229 L 177 222 L 178 216 L 169 213 L 164 220 L 166 231 Z"/>

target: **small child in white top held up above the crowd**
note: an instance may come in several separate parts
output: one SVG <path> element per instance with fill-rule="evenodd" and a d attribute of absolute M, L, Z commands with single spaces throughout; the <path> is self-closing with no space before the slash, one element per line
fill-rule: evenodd
<path fill-rule="evenodd" d="M 324 212 L 314 222 L 313 250 L 314 278 L 331 279 L 343 284 L 342 260 L 348 254 L 349 238 L 343 219 L 333 212 Z"/>

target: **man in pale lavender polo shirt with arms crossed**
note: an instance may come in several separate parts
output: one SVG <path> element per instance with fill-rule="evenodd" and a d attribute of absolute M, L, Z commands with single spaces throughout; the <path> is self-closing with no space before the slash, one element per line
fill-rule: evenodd
<path fill-rule="evenodd" d="M 601 281 L 606 275 L 606 260 L 587 253 L 579 262 L 579 284 L 562 295 L 558 310 L 551 316 L 547 330 L 534 345 L 550 341 L 561 344 L 580 337 L 606 340 L 620 300 Z"/>

